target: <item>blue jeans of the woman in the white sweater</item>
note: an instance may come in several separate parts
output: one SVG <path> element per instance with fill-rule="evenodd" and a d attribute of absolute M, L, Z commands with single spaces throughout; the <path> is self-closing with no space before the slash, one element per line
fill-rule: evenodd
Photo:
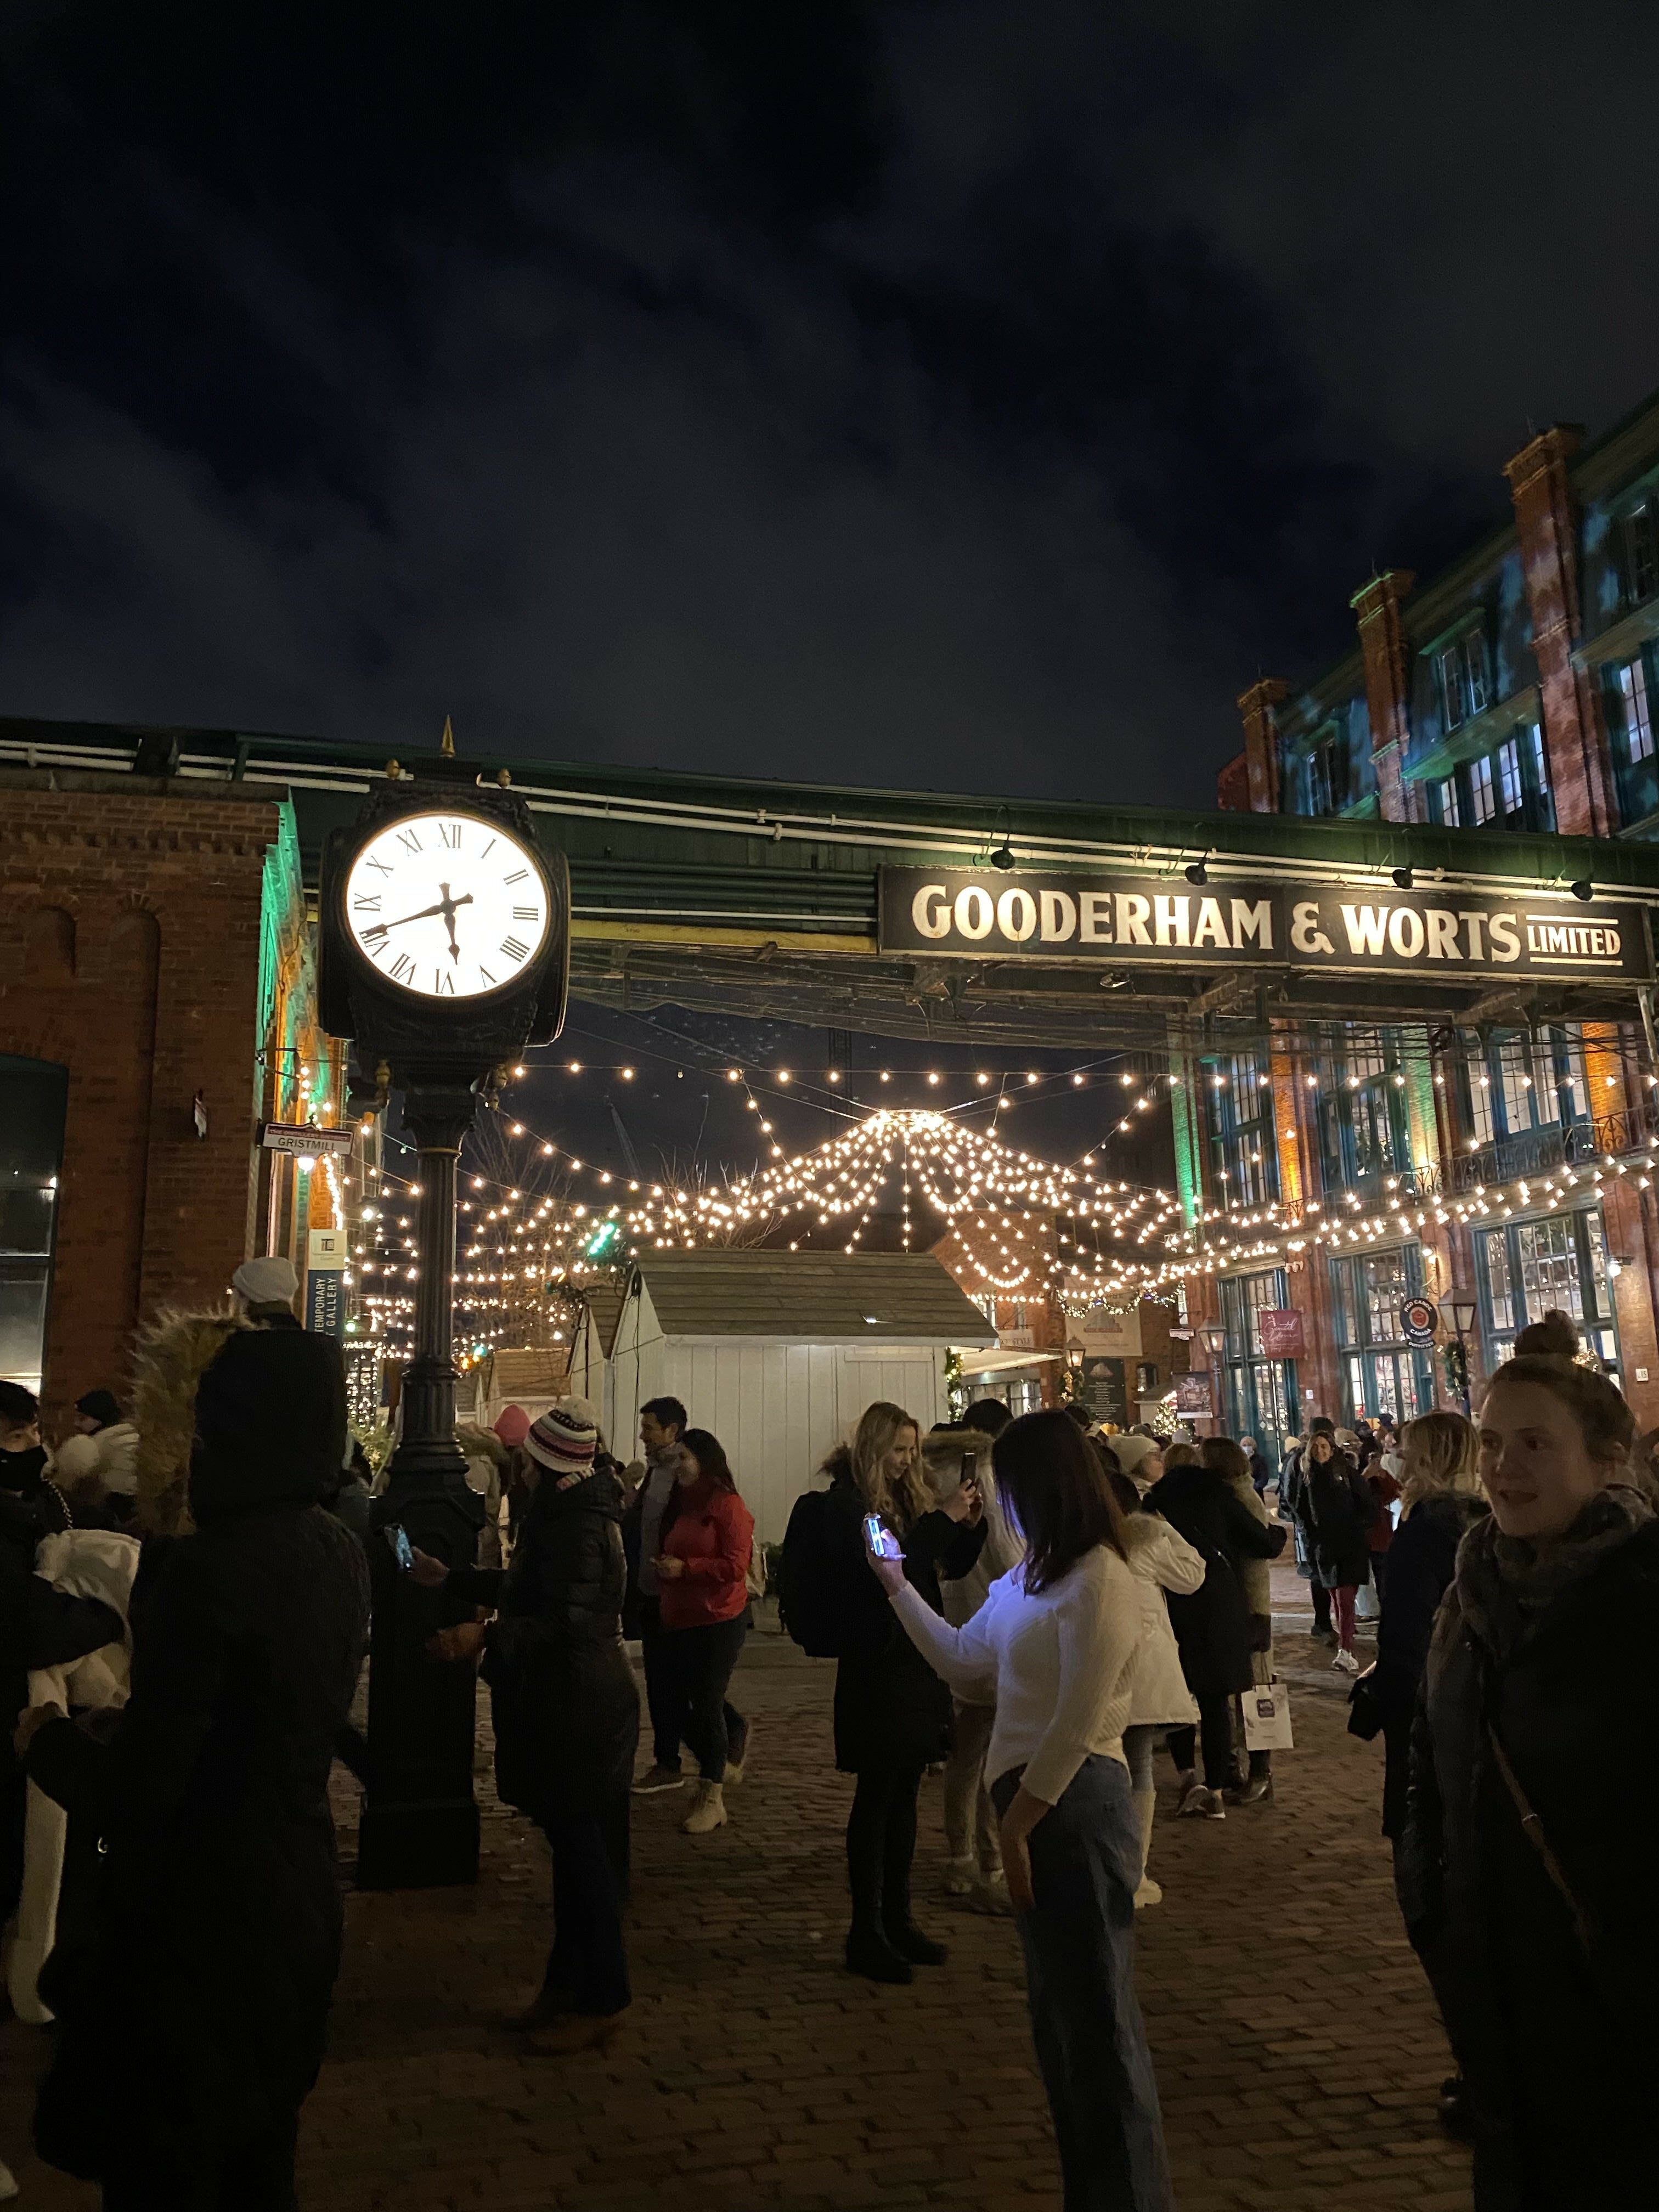
<path fill-rule="evenodd" d="M 991 1787 L 1004 1814 L 1024 1767 Z M 1152 2057 L 1135 2000 L 1141 1823 L 1117 1759 L 1091 1756 L 1029 1836 L 1020 1913 L 1031 2037 L 1066 2212 L 1175 2212 Z"/>

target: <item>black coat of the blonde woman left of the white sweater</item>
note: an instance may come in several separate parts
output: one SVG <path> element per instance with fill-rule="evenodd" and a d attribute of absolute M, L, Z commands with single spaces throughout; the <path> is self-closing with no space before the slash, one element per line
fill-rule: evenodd
<path fill-rule="evenodd" d="M 865 1557 L 865 1500 L 847 1453 L 830 1460 L 825 1546 L 847 1635 L 836 1661 L 836 1767 L 925 1767 L 951 1747 L 951 1692 L 898 1626 Z M 958 1582 L 984 1548 L 984 1522 L 922 1513 L 900 1533 L 905 1579 L 942 1613 L 940 1575 Z"/>

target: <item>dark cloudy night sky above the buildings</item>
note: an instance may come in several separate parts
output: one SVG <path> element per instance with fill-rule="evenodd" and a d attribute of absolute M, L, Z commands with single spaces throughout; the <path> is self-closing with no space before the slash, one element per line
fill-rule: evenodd
<path fill-rule="evenodd" d="M 1210 803 L 1659 383 L 1659 15 L 13 0 L 0 701 Z"/>

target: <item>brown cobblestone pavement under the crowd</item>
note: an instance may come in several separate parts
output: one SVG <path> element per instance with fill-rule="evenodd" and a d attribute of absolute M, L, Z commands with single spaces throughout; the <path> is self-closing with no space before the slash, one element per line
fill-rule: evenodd
<path fill-rule="evenodd" d="M 1281 1601 L 1301 1595 L 1283 1577 Z M 1347 1683 L 1290 1628 L 1296 1752 L 1276 1801 L 1179 1823 L 1159 1761 L 1166 1902 L 1137 1922 L 1139 1984 L 1179 2205 L 1464 2212 L 1467 2154 L 1433 2121 L 1444 2039 L 1378 1836 L 1380 1750 L 1345 1734 Z M 737 1681 L 757 1750 L 730 1827 L 692 1843 L 684 1796 L 635 1801 L 635 2013 L 604 2057 L 533 2059 L 495 2024 L 540 1978 L 546 1863 L 480 1750 L 478 1889 L 349 1898 L 301 2139 L 307 2212 L 1060 2203 L 1013 1927 L 933 1896 L 936 1785 L 918 1918 L 949 1936 L 949 1964 L 900 1991 L 841 1969 L 852 1783 L 832 1767 L 830 1679 L 757 1632 Z M 40 2053 L 38 2031 L 0 2031 L 0 2152 L 24 2212 L 80 2212 L 95 2192 L 22 2148 Z"/>

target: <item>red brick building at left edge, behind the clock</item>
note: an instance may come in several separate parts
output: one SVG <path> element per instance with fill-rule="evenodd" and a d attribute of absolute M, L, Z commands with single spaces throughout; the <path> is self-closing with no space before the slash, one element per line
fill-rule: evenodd
<path fill-rule="evenodd" d="M 334 1219 L 254 1148 L 332 1113 L 319 1048 L 281 785 L 0 768 L 0 1374 L 49 1422 L 119 1391 L 142 1316 Z"/>

